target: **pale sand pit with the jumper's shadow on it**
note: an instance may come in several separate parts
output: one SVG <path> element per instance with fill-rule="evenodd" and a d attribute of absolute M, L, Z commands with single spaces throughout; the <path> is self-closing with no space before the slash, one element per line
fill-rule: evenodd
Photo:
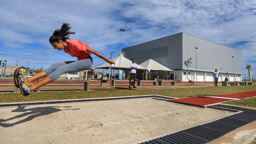
<path fill-rule="evenodd" d="M 152 98 L 0 108 L 1 143 L 133 143 L 234 112 Z"/>

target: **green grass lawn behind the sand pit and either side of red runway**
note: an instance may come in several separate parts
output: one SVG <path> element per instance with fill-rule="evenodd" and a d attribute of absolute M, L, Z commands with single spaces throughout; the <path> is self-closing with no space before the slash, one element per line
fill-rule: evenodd
<path fill-rule="evenodd" d="M 40 92 L 32 93 L 29 96 L 22 96 L 20 93 L 1 94 L 0 103 L 10 102 L 31 102 L 49 101 L 65 99 L 85 99 L 85 98 L 105 98 L 121 96 L 141 96 L 141 95 L 162 95 L 174 98 L 188 98 L 205 95 L 219 95 L 236 92 L 246 92 L 256 90 L 253 86 L 237 87 L 203 87 L 203 88 L 179 88 L 179 89 L 160 89 L 160 90 L 127 90 L 127 89 L 91 89 L 93 91 L 65 91 L 65 92 Z M 239 105 L 256 108 L 256 98 L 243 99 L 227 102 L 226 104 Z"/>

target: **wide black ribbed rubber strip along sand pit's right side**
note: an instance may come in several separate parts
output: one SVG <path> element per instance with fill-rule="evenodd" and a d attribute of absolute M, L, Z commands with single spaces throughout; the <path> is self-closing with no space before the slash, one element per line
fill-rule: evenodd
<path fill-rule="evenodd" d="M 213 105 L 213 107 L 235 109 L 243 112 L 181 130 L 141 144 L 204 144 L 256 120 L 256 110 L 253 109 L 226 105 Z"/>

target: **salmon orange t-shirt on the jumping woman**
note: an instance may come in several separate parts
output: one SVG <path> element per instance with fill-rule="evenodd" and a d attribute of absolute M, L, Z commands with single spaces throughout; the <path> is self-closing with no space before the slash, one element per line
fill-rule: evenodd
<path fill-rule="evenodd" d="M 91 48 L 89 45 L 83 43 L 80 40 L 66 40 L 69 50 L 64 48 L 64 51 L 73 57 L 77 57 L 78 60 L 82 60 L 91 55 L 86 51 L 86 47 Z"/>

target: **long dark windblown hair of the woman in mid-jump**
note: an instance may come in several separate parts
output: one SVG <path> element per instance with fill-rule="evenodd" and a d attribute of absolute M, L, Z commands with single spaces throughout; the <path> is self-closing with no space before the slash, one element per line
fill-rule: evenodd
<path fill-rule="evenodd" d="M 60 30 L 57 29 L 54 31 L 52 36 L 49 38 L 49 42 L 50 43 L 58 42 L 59 39 L 62 41 L 66 41 L 67 39 L 69 39 L 69 34 L 75 34 L 75 32 L 69 32 L 69 30 L 72 28 L 72 27 L 69 27 L 69 25 L 70 24 L 68 23 L 63 23 Z"/>

